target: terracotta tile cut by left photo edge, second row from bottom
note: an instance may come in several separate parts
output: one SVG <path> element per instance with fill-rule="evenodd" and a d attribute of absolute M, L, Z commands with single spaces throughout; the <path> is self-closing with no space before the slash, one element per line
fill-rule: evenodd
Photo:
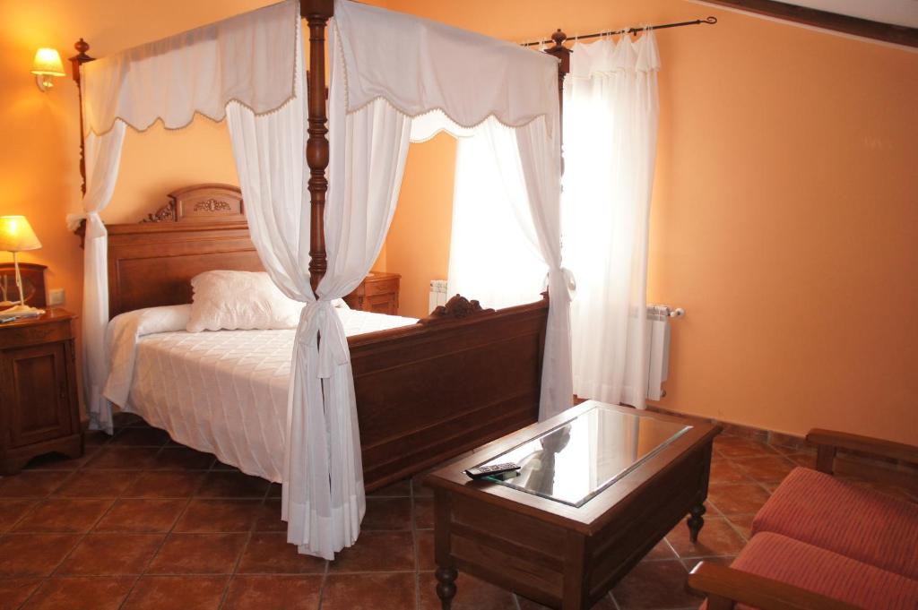
<path fill-rule="evenodd" d="M 79 540 L 78 534 L 7 534 L 0 538 L 0 578 L 47 576 Z"/>

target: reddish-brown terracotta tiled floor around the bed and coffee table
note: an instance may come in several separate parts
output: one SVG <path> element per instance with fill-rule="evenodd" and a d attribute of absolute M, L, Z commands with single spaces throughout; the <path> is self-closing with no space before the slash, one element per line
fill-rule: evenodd
<path fill-rule="evenodd" d="M 42 458 L 0 479 L 0 610 L 440 607 L 432 498 L 418 482 L 372 494 L 357 544 L 317 560 L 286 544 L 279 486 L 120 421 L 114 438 L 88 437 L 80 460 Z M 700 542 L 679 524 L 596 608 L 697 607 L 688 571 L 700 559 L 732 560 L 797 464 L 812 455 L 718 438 Z M 543 608 L 461 574 L 457 585 L 455 610 Z"/>

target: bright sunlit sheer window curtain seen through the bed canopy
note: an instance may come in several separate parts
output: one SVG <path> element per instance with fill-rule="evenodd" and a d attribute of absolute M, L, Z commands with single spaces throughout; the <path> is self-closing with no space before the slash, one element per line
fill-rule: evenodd
<path fill-rule="evenodd" d="M 449 293 L 495 308 L 538 301 L 548 267 L 532 227 L 516 134 L 493 120 L 473 131 L 456 148 Z"/>

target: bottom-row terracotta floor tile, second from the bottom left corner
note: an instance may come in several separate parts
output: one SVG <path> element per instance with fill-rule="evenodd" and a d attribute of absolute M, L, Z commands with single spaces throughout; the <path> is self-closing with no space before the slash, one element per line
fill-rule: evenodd
<path fill-rule="evenodd" d="M 50 579 L 23 610 L 118 610 L 134 580 L 133 576 Z"/>

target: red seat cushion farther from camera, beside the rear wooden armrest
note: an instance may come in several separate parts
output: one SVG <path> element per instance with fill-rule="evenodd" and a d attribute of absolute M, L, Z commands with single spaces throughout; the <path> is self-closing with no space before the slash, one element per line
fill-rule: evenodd
<path fill-rule="evenodd" d="M 772 532 L 918 580 L 918 505 L 797 468 L 759 510 Z"/>

